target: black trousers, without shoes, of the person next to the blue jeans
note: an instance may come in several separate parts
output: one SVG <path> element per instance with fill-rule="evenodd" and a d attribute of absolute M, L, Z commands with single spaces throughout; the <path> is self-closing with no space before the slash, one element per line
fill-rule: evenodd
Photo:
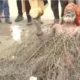
<path fill-rule="evenodd" d="M 22 12 L 22 2 L 21 0 L 17 0 L 17 8 L 18 8 L 18 15 L 23 15 Z M 26 9 L 26 15 L 28 19 L 31 19 L 30 15 L 29 15 L 29 11 L 30 11 L 30 4 L 28 0 L 25 0 L 25 9 Z"/>

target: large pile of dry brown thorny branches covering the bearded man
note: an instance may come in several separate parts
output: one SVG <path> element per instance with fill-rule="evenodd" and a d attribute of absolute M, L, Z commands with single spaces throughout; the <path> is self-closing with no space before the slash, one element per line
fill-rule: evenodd
<path fill-rule="evenodd" d="M 0 80 L 80 80 L 80 41 L 66 34 L 46 41 L 33 35 L 1 53 L 9 55 L 0 60 Z"/>

